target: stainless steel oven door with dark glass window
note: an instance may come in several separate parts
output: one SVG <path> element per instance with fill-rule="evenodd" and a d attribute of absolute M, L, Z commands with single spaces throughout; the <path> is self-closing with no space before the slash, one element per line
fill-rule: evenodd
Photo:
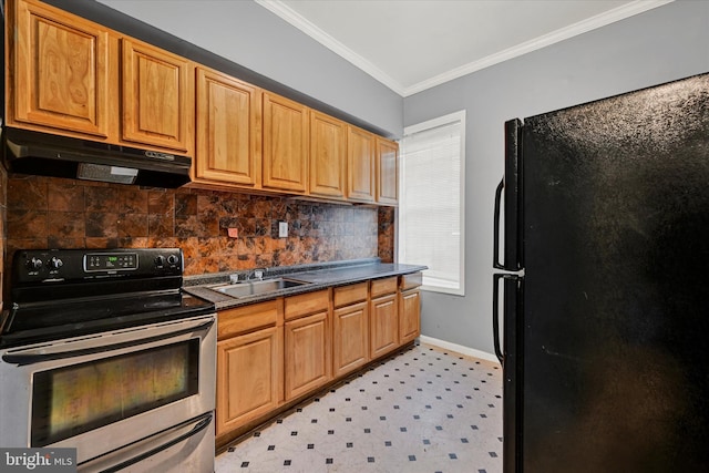
<path fill-rule="evenodd" d="M 201 316 L 0 351 L 0 445 L 75 448 L 80 470 L 102 471 L 109 457 L 144 461 L 206 433 L 213 461 L 215 322 Z"/>

